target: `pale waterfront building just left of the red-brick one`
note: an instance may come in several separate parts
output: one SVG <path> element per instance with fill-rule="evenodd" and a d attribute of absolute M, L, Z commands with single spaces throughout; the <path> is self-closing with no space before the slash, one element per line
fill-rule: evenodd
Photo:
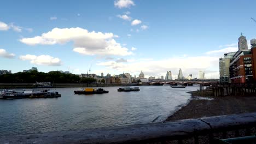
<path fill-rule="evenodd" d="M 229 79 L 230 59 L 236 52 L 224 53 L 224 57 L 219 58 L 219 82 L 231 82 Z"/>

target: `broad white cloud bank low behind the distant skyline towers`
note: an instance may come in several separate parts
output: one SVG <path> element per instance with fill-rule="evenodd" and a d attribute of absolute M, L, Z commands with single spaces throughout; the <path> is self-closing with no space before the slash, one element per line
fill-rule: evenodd
<path fill-rule="evenodd" d="M 207 61 L 205 61 L 207 59 Z M 199 56 L 199 57 L 171 57 L 168 59 L 127 59 L 127 63 L 117 63 L 114 61 L 101 62 L 97 65 L 102 65 L 107 68 L 117 70 L 119 73 L 126 71 L 131 74 L 139 74 L 141 70 L 147 76 L 165 75 L 166 71 L 171 70 L 172 74 L 178 74 L 179 68 L 182 68 L 183 75 L 188 76 L 193 74 L 197 77 L 199 70 L 205 70 L 206 74 L 218 78 L 218 57 Z M 175 63 L 178 62 L 178 63 Z M 213 69 L 213 70 L 211 70 Z M 217 74 L 217 75 L 216 75 Z M 212 78 L 208 77 L 208 78 Z"/>

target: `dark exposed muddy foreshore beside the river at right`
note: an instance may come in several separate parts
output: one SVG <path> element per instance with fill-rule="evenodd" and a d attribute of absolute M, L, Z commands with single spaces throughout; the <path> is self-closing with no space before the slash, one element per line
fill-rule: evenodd
<path fill-rule="evenodd" d="M 173 115 L 169 116 L 166 121 L 256 111 L 256 95 L 200 97 L 199 93 L 200 92 L 197 91 L 191 92 L 191 101 Z M 208 92 L 208 94 L 211 95 L 210 92 Z"/>

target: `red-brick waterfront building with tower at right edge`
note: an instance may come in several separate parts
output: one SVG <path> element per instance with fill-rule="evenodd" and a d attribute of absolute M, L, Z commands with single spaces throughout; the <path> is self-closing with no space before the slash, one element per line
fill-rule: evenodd
<path fill-rule="evenodd" d="M 238 42 L 238 46 L 239 44 L 245 43 Z M 256 39 L 251 40 L 251 50 L 246 50 L 246 46 L 240 46 L 231 58 L 229 72 L 232 83 L 256 82 Z"/>

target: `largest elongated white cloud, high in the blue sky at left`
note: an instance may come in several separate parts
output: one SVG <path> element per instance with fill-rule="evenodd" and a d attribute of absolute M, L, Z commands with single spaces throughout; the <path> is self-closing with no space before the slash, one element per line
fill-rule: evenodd
<path fill-rule="evenodd" d="M 117 43 L 113 33 L 88 32 L 83 28 L 54 28 L 41 36 L 20 39 L 28 45 L 54 45 L 74 42 L 73 51 L 83 55 L 117 55 L 127 56 L 133 53 Z"/>

